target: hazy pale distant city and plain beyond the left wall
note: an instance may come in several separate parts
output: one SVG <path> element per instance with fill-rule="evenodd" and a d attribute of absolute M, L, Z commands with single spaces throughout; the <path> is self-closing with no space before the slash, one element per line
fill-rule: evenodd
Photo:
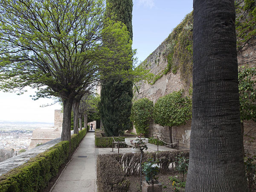
<path fill-rule="evenodd" d="M 0 121 L 0 161 L 27 150 L 32 132 L 38 128 L 53 127 L 53 123 Z"/>

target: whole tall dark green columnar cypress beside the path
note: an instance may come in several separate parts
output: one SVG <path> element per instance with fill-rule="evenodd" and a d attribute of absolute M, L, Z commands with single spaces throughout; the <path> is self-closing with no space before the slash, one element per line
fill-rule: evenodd
<path fill-rule="evenodd" d="M 106 16 L 124 23 L 132 40 L 132 0 L 107 0 Z M 133 97 L 132 81 L 122 79 L 101 82 L 101 119 L 106 136 L 118 136 L 131 125 L 131 107 Z"/>

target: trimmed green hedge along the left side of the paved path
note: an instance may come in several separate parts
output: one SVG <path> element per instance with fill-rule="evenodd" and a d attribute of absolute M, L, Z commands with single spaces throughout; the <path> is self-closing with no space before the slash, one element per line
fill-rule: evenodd
<path fill-rule="evenodd" d="M 75 151 L 86 135 L 87 129 L 79 136 L 71 136 L 71 151 Z M 47 151 L 31 158 L 27 163 L 0 176 L 0 192 L 41 192 L 55 177 L 69 155 L 69 142 L 61 141 Z"/>

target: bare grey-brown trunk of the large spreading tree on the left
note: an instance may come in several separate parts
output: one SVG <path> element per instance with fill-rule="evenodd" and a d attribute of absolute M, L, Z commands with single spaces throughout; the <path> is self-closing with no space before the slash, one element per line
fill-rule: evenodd
<path fill-rule="evenodd" d="M 69 159 L 71 158 L 71 112 L 73 99 L 62 99 L 63 102 L 63 123 L 61 141 L 69 141 Z"/>

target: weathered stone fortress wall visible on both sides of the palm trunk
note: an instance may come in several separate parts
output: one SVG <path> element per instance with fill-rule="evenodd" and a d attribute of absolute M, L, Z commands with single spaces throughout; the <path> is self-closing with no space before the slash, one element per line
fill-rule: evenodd
<path fill-rule="evenodd" d="M 146 69 L 149 69 L 150 72 L 155 76 L 160 74 L 161 71 L 163 71 L 168 65 L 168 59 L 166 59 L 166 55 L 164 54 L 166 49 L 168 49 L 168 44 L 169 40 L 167 38 L 142 63 L 142 65 Z M 256 67 L 256 37 L 250 41 L 250 44 L 245 44 L 243 49 L 238 52 L 237 58 L 239 66 L 249 64 L 251 67 Z M 191 83 L 192 78 L 186 79 L 186 81 Z M 184 89 L 185 92 L 188 93 L 189 89 L 188 83 L 184 83 L 182 80 L 180 70 L 178 70 L 175 74 L 172 73 L 172 70 L 170 70 L 168 73 L 163 74 L 161 78 L 157 79 L 154 84 L 149 84 L 147 81 L 140 81 L 136 86 L 137 88 L 134 87 L 135 100 L 148 98 L 154 103 L 158 98 L 172 93 L 173 91 Z M 154 124 L 154 122 L 151 122 L 149 127 L 150 128 L 148 129 L 148 134 L 146 137 L 158 136 L 166 142 L 170 142 L 169 128 L 167 126 L 162 127 Z M 179 146 L 181 148 L 189 148 L 190 133 L 191 120 L 188 121 L 186 125 L 172 127 L 173 142 L 175 143 L 177 140 L 179 140 Z M 256 122 L 251 120 L 244 121 L 244 149 L 246 153 L 256 153 Z"/>

